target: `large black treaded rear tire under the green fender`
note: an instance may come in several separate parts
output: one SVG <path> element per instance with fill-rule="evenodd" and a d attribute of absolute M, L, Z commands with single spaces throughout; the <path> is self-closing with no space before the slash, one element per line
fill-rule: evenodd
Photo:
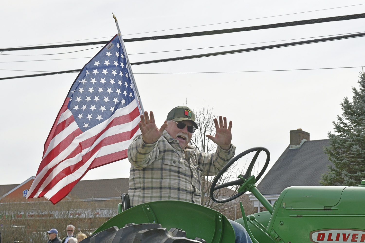
<path fill-rule="evenodd" d="M 186 238 L 186 232 L 177 228 L 169 231 L 161 224 L 126 224 L 111 227 L 82 240 L 82 243 L 206 243 L 205 240 Z"/>

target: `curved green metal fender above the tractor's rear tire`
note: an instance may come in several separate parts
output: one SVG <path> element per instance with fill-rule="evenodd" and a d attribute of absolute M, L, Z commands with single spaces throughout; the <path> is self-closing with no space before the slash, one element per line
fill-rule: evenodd
<path fill-rule="evenodd" d="M 162 227 L 186 231 L 187 238 L 196 237 L 208 243 L 234 243 L 235 234 L 221 213 L 199 204 L 184 201 L 155 201 L 127 209 L 101 225 L 94 233 L 125 224 L 158 223 Z"/>

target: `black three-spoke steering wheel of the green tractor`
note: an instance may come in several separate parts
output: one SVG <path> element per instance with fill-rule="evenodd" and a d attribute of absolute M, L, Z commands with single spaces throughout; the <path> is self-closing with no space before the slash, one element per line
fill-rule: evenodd
<path fill-rule="evenodd" d="M 224 188 L 224 187 L 230 187 L 233 185 L 242 185 L 245 181 L 243 181 L 242 179 L 238 179 L 236 181 L 230 181 L 227 183 L 224 183 L 222 185 L 218 185 L 215 186 L 218 182 L 218 180 L 220 179 L 220 177 L 222 177 L 223 173 L 227 171 L 227 169 L 234 163 L 236 162 L 239 158 L 245 156 L 246 154 L 249 154 L 251 152 L 256 151 L 254 157 L 251 160 L 251 163 L 249 165 L 249 167 L 246 170 L 245 175 L 243 175 L 242 177 L 245 178 L 246 180 L 251 176 L 251 172 L 253 169 L 253 166 L 257 160 L 258 155 L 260 154 L 261 151 L 264 151 L 266 153 L 266 162 L 264 165 L 264 168 L 262 168 L 261 172 L 257 175 L 256 179 L 260 179 L 260 177 L 264 174 L 264 172 L 266 171 L 266 168 L 268 168 L 269 165 L 269 161 L 270 161 L 270 152 L 268 149 L 264 148 L 264 147 L 255 147 L 255 148 L 251 148 L 251 149 L 247 149 L 246 151 L 238 154 L 236 157 L 234 157 L 230 162 L 228 162 L 226 165 L 224 165 L 224 167 L 220 170 L 220 172 L 218 173 L 218 175 L 214 178 L 212 185 L 210 187 L 210 192 L 209 192 L 209 196 L 212 199 L 212 201 L 216 202 L 216 203 L 227 203 L 229 201 L 232 201 L 234 199 L 236 199 L 237 197 L 241 196 L 244 192 L 240 192 L 237 193 L 236 195 L 233 195 L 227 199 L 216 199 L 213 195 L 213 192 L 220 189 L 220 188 Z"/>

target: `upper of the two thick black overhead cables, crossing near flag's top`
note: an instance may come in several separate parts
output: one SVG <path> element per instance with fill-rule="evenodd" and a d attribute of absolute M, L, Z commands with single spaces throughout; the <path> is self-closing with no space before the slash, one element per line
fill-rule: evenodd
<path fill-rule="evenodd" d="M 230 28 L 230 29 L 212 30 L 212 31 L 200 31 L 200 32 L 191 32 L 191 33 L 174 34 L 174 35 L 160 35 L 160 36 L 149 36 L 149 37 L 141 37 L 141 38 L 130 38 L 130 39 L 124 39 L 124 42 L 135 42 L 135 41 L 142 41 L 142 40 L 173 39 L 173 38 L 183 38 L 183 37 L 202 36 L 202 35 L 217 35 L 217 34 L 226 34 L 226 33 L 241 32 L 241 31 L 264 30 L 264 29 L 270 29 L 270 28 L 299 26 L 299 25 L 304 25 L 304 24 L 316 24 L 316 23 L 325 23 L 325 22 L 332 22 L 332 21 L 361 19 L 364 17 L 365 17 L 365 13 L 359 13 L 359 14 L 353 14 L 353 15 L 343 15 L 343 16 L 327 17 L 327 18 L 320 18 L 320 19 L 291 21 L 291 22 L 277 23 L 277 24 L 265 24 L 265 25 L 261 25 L 261 26 Z M 19 50 L 58 48 L 58 47 L 89 46 L 89 45 L 96 45 L 96 44 L 107 44 L 108 42 L 109 42 L 109 40 L 108 41 L 99 41 L 99 42 L 59 44 L 59 45 L 49 45 L 49 46 L 13 47 L 13 48 L 1 48 L 0 51 L 19 51 Z"/>

